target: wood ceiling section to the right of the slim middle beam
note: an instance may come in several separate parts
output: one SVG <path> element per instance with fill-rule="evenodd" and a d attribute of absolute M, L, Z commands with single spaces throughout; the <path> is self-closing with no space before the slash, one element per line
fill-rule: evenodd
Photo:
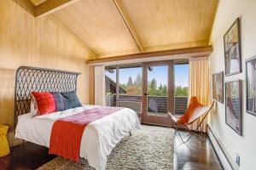
<path fill-rule="evenodd" d="M 144 48 L 172 48 L 184 42 L 190 42 L 190 47 L 193 42 L 206 45 L 218 4 L 218 0 L 117 1 L 130 16 Z"/>

